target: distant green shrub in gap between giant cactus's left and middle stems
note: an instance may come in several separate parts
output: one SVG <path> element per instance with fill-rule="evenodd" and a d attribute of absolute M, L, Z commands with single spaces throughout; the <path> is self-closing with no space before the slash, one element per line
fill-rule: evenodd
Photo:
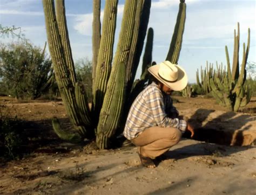
<path fill-rule="evenodd" d="M 77 80 L 82 82 L 86 88 L 89 102 L 92 101 L 92 61 L 87 58 L 77 60 L 76 65 Z"/>

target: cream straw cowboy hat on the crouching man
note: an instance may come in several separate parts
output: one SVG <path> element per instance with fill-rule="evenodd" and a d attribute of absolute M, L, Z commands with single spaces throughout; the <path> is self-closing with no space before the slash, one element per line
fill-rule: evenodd
<path fill-rule="evenodd" d="M 187 74 L 184 69 L 170 61 L 151 66 L 149 72 L 172 90 L 182 90 L 187 86 Z"/>

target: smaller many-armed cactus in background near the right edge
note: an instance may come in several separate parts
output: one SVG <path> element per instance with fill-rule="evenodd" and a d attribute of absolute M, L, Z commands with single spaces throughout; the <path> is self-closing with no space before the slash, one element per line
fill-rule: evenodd
<path fill-rule="evenodd" d="M 230 58 L 227 46 L 225 47 L 227 57 L 227 73 L 224 74 L 223 80 L 215 77 L 210 80 L 212 94 L 217 102 L 228 107 L 228 109 L 237 112 L 239 107 L 245 106 L 251 99 L 251 88 L 245 83 L 246 80 L 246 62 L 250 48 L 250 29 L 248 29 L 247 47 L 243 44 L 243 55 L 241 63 L 241 71 L 239 73 L 239 23 L 238 34 L 234 30 L 234 52 L 232 72 L 230 68 Z"/>

